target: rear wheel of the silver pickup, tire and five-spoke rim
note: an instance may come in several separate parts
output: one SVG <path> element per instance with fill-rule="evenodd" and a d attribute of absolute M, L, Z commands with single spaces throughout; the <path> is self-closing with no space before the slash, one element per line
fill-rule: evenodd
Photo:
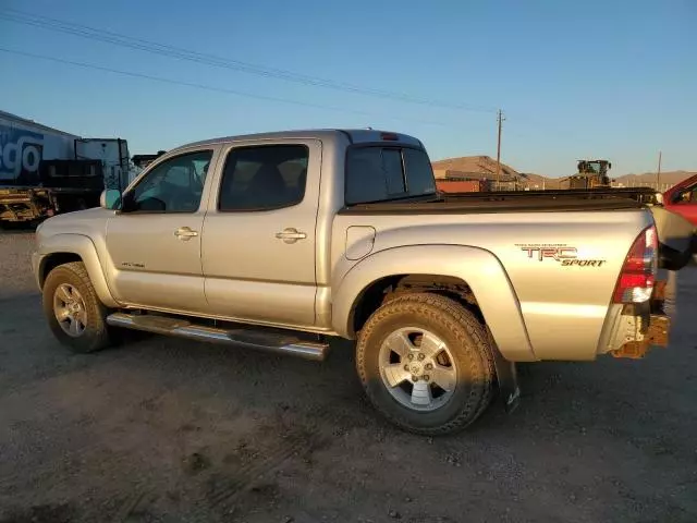
<path fill-rule="evenodd" d="M 378 308 L 362 329 L 358 377 L 374 406 L 393 424 L 420 435 L 453 434 L 491 402 L 496 370 L 487 340 L 474 314 L 453 300 L 430 293 L 400 296 Z"/>

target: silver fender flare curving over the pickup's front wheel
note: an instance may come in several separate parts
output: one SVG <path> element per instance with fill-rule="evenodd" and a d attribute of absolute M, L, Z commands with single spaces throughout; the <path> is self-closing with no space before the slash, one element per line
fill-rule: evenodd
<path fill-rule="evenodd" d="M 80 256 L 83 264 L 85 264 L 87 275 L 89 275 L 89 280 L 91 281 L 95 292 L 101 303 L 107 307 L 112 308 L 120 306 L 119 302 L 114 300 L 111 291 L 109 290 L 107 278 L 105 277 L 105 271 L 99 260 L 99 255 L 97 254 L 97 247 L 95 247 L 91 239 L 84 234 L 54 234 L 41 242 L 36 253 L 37 260 L 35 263 L 36 279 L 39 283 L 39 288 L 44 287 L 45 278 L 42 278 L 41 275 L 44 275 L 44 267 L 46 266 L 46 263 L 49 260 L 51 255 L 60 253 L 76 254 Z"/>

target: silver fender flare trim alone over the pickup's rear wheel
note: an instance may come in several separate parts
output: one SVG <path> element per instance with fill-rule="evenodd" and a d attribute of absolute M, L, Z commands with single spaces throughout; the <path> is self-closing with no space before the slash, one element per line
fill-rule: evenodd
<path fill-rule="evenodd" d="M 332 327 L 354 338 L 353 311 L 376 281 L 398 275 L 439 275 L 465 281 L 477 299 L 501 354 L 512 362 L 534 362 L 521 304 L 501 262 L 489 251 L 461 245 L 412 245 L 367 256 L 334 287 Z"/>

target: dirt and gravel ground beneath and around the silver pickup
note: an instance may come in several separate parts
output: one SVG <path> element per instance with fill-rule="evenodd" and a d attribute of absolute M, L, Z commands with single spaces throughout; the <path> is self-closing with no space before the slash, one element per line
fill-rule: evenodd
<path fill-rule="evenodd" d="M 527 366 L 514 414 L 428 439 L 375 414 L 351 346 L 71 355 L 32 248 L 0 232 L 0 523 L 697 521 L 697 269 L 669 349 Z"/>

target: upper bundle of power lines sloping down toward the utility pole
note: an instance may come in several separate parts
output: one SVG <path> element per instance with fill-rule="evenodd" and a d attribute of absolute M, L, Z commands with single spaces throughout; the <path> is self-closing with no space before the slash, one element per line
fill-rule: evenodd
<path fill-rule="evenodd" d="M 346 93 L 360 94 L 366 96 L 374 96 L 379 98 L 387 98 L 395 101 L 403 101 L 408 104 L 426 105 L 431 107 L 441 107 L 447 109 L 458 109 L 464 111 L 476 112 L 496 112 L 494 109 L 484 106 L 466 105 L 466 104 L 451 104 L 439 100 L 430 100 L 426 98 L 419 98 L 411 96 L 404 93 L 395 93 L 383 89 L 375 89 L 368 87 L 362 87 L 350 83 L 337 82 L 318 76 L 309 76 L 305 74 L 295 73 L 288 70 L 268 68 L 250 62 L 241 60 L 233 60 L 216 54 L 204 53 L 185 49 L 181 47 L 170 46 L 166 44 L 159 44 L 151 40 L 145 40 L 142 38 L 135 38 L 119 33 L 90 27 L 87 25 L 75 24 L 72 22 L 65 22 L 49 16 L 37 15 L 33 13 L 23 12 L 16 9 L 4 9 L 4 12 L 0 11 L 0 17 L 9 22 L 14 22 L 24 25 L 30 25 L 40 27 L 48 31 L 54 31 L 59 33 L 65 33 L 81 38 L 90 40 L 99 40 L 114 46 L 125 47 L 130 49 L 140 50 L 154 54 L 166 56 L 175 58 L 179 60 L 187 60 L 206 65 L 234 70 L 243 73 L 255 74 L 264 77 L 272 77 L 286 82 L 293 82 L 297 84 L 323 87 L 334 90 L 342 90 Z"/>

